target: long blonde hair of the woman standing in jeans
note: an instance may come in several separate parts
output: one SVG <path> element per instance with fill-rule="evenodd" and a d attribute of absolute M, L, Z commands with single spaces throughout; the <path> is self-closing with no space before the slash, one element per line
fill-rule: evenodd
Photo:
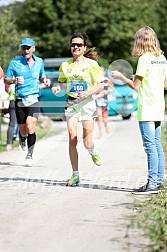
<path fill-rule="evenodd" d="M 156 33 L 149 26 L 145 26 L 136 32 L 132 56 L 140 57 L 146 52 L 156 56 L 163 54 Z"/>

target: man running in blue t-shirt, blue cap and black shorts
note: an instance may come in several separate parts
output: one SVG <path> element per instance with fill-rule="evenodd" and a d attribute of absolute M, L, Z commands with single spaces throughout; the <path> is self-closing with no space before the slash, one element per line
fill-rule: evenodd
<path fill-rule="evenodd" d="M 13 59 L 6 72 L 5 84 L 15 84 L 15 108 L 20 131 L 20 145 L 28 146 L 25 165 L 32 166 L 32 154 L 36 142 L 35 127 L 40 112 L 40 89 L 49 87 L 44 62 L 35 56 L 35 42 L 31 38 L 21 41 L 22 55 Z"/>

